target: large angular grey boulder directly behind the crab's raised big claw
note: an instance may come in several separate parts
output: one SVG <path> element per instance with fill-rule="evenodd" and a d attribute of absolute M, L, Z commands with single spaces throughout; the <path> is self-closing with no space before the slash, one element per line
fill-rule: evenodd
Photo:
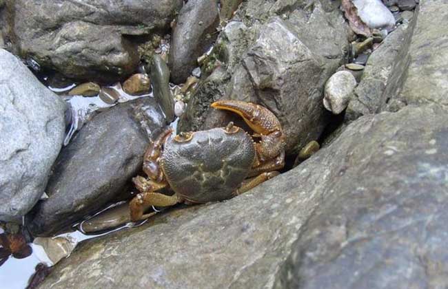
<path fill-rule="evenodd" d="M 218 59 L 219 78 L 212 74 L 204 81 L 215 83 L 213 90 L 192 95 L 196 105 L 187 107 L 180 129 L 225 125 L 229 118 L 197 104 L 230 98 L 273 111 L 287 134 L 289 153 L 318 138 L 327 124 L 323 87 L 347 52 L 340 11 L 325 0 L 307 7 L 252 0 L 241 4 L 234 19 L 241 22 L 227 24 L 210 56 Z"/>

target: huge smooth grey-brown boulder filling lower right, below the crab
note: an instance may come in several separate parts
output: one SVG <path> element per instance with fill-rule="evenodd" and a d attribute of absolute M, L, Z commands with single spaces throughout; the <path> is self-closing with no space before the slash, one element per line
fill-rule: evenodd
<path fill-rule="evenodd" d="M 305 285 L 323 280 L 316 288 L 338 288 L 339 281 L 343 284 L 340 288 L 350 286 L 347 280 L 358 276 L 354 272 L 363 272 L 366 278 L 376 276 L 378 281 L 387 278 L 409 284 L 405 275 L 409 270 L 424 274 L 424 268 L 434 268 L 431 278 L 440 280 L 437 277 L 444 275 L 437 272 L 443 265 L 429 264 L 447 263 L 442 235 L 448 220 L 438 222 L 447 216 L 447 121 L 447 111 L 436 106 L 360 118 L 329 147 L 248 193 L 226 202 L 176 208 L 139 228 L 83 242 L 70 258 L 57 264 L 42 288 L 75 284 L 82 288 L 92 284 L 108 288 L 136 284 L 151 288 L 274 288 L 276 279 L 283 281 L 288 270 L 294 280 L 304 276 Z M 431 154 L 434 149 L 443 157 Z M 428 194 L 427 188 L 434 195 Z M 436 223 L 430 222 L 431 218 Z M 362 230 L 369 226 L 369 231 Z M 346 231 L 338 231 L 345 227 Z M 320 228 L 323 233 L 319 235 Z M 370 235 L 363 238 L 362 232 Z M 407 246 L 387 238 L 406 232 Z M 294 244 L 296 239 L 300 241 Z M 382 250 L 388 246 L 394 248 L 392 253 Z M 309 254 L 291 254 L 292 248 Z M 352 255 L 338 254 L 345 248 Z M 356 248 L 371 254 L 356 255 Z M 440 259 L 429 252 L 439 253 Z M 420 253 L 428 258 L 418 258 Z M 282 268 L 288 255 L 307 263 Z M 382 270 L 385 266 L 387 270 Z M 103 278 L 99 279 L 99 274 Z M 329 275 L 332 279 L 325 279 Z M 334 286 L 324 283 L 333 278 Z M 371 285 L 365 284 L 365 288 Z"/>

